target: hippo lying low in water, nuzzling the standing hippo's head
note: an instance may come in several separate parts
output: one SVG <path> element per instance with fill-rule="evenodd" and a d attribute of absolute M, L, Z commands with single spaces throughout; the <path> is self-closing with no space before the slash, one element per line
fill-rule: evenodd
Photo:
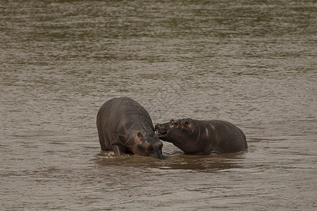
<path fill-rule="evenodd" d="M 156 124 L 155 130 L 161 140 L 173 143 L 185 154 L 237 153 L 248 148 L 244 132 L 222 120 L 170 120 Z"/>

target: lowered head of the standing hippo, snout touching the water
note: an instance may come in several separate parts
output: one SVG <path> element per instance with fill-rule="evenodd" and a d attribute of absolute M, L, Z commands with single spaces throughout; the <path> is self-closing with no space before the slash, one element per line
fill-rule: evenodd
<path fill-rule="evenodd" d="M 132 151 L 135 155 L 164 159 L 162 154 L 163 143 L 154 133 L 137 132 L 135 146 Z"/>

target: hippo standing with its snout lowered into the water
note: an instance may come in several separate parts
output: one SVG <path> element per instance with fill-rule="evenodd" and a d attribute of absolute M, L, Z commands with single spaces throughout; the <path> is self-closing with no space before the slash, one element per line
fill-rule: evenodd
<path fill-rule="evenodd" d="M 97 130 L 101 151 L 163 159 L 163 143 L 154 133 L 149 113 L 131 98 L 106 101 L 97 114 Z"/>

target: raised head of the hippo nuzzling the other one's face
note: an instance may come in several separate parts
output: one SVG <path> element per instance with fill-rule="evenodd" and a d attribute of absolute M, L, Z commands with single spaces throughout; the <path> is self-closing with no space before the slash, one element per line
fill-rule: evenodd
<path fill-rule="evenodd" d="M 199 132 L 195 128 L 194 120 L 186 118 L 156 124 L 155 132 L 161 140 L 173 143 L 185 153 L 193 153 L 200 150 L 197 146 Z"/>

